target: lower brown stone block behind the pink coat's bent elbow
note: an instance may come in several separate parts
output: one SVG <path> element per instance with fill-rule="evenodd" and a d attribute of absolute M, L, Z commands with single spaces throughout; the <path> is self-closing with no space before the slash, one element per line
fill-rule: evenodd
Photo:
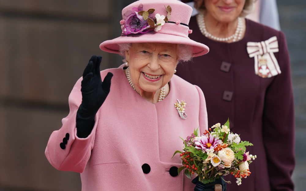
<path fill-rule="evenodd" d="M 10 190 L 81 190 L 80 174 L 58 171 L 44 151 L 68 111 L 0 105 L 0 187 Z M 1 190 L 1 189 L 0 189 Z"/>

